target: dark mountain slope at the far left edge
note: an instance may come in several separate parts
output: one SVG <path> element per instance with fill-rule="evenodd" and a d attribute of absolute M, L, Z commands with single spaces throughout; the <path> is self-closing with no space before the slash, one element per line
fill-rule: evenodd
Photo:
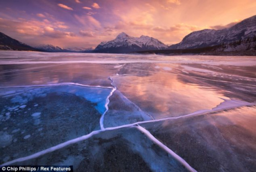
<path fill-rule="evenodd" d="M 2 32 L 0 32 L 0 50 L 38 51 Z"/>

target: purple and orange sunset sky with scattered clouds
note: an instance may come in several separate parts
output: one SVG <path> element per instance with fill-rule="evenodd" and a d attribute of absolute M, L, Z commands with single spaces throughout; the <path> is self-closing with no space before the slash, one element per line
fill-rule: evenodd
<path fill-rule="evenodd" d="M 121 32 L 171 45 L 256 15 L 255 0 L 1 0 L 0 7 L 0 32 L 62 48 L 95 48 Z"/>

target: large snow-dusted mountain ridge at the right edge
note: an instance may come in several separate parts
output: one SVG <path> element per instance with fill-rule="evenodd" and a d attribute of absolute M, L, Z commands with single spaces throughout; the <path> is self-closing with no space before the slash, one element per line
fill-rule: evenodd
<path fill-rule="evenodd" d="M 256 15 L 244 19 L 242 22 L 226 29 L 214 30 L 205 29 L 191 32 L 176 45 L 169 46 L 168 49 L 193 49 L 221 44 L 229 44 L 233 41 L 244 41 L 253 39 L 256 36 Z"/>

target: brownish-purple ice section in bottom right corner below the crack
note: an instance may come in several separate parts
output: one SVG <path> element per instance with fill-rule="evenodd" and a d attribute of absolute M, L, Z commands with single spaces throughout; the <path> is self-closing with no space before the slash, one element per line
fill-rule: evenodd
<path fill-rule="evenodd" d="M 141 126 L 198 171 L 255 169 L 256 106 Z"/>

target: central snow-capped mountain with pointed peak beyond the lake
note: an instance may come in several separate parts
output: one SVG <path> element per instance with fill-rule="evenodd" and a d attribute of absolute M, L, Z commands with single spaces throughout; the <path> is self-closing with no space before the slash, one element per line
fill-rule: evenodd
<path fill-rule="evenodd" d="M 117 37 L 108 42 L 101 42 L 93 52 L 97 53 L 130 53 L 143 50 L 162 50 L 167 46 L 161 41 L 149 37 L 132 37 L 122 32 Z"/>

